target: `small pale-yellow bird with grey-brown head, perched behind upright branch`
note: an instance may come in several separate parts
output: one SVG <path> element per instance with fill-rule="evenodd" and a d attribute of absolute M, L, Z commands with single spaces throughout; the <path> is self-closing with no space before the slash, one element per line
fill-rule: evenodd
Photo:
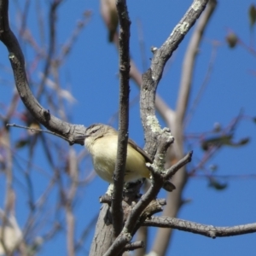
<path fill-rule="evenodd" d="M 86 129 L 84 136 L 80 136 L 78 139 L 84 140 L 84 146 L 92 157 L 96 173 L 108 183 L 113 183 L 118 131 L 109 125 L 93 124 Z M 151 173 L 146 163 L 152 162 L 148 154 L 129 138 L 125 163 L 125 183 L 143 177 L 150 178 Z M 175 186 L 170 181 L 166 181 L 163 188 L 171 192 Z"/>

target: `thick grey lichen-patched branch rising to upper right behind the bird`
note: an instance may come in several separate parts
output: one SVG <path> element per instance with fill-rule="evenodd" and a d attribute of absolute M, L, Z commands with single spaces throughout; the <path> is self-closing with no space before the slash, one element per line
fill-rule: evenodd
<path fill-rule="evenodd" d="M 154 55 L 151 67 L 143 74 L 141 90 L 141 117 L 146 137 L 145 150 L 151 156 L 155 153 L 157 133 L 160 132 L 160 125 L 155 116 L 154 99 L 166 61 L 169 60 L 173 51 L 177 49 L 189 29 L 195 24 L 195 20 L 205 9 L 207 2 L 208 0 L 195 0 L 160 49 L 152 49 Z"/>

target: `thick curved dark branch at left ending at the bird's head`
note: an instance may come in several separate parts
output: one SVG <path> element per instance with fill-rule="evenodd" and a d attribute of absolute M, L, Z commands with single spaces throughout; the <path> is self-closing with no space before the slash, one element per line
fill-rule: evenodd
<path fill-rule="evenodd" d="M 55 2 L 60 3 L 60 1 Z M 9 28 L 8 7 L 8 0 L 0 1 L 0 39 L 9 50 L 9 61 L 14 71 L 15 84 L 22 102 L 30 113 L 32 113 L 33 117 L 37 119 L 40 124 L 49 129 L 49 131 L 54 131 L 62 137 L 65 137 L 70 144 L 83 144 L 83 142 L 75 140 L 76 135 L 84 134 L 85 127 L 83 125 L 71 125 L 61 119 L 57 119 L 54 115 L 49 113 L 49 110 L 43 108 L 32 95 L 32 91 L 26 79 L 25 60 L 20 49 L 20 44 L 15 34 Z"/>

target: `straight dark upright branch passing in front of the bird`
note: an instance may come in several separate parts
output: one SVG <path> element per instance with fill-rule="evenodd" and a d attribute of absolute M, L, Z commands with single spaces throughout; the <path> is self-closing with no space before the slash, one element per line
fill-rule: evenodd
<path fill-rule="evenodd" d="M 120 32 L 119 32 L 119 137 L 118 153 L 113 172 L 113 236 L 119 236 L 123 228 L 123 186 L 125 177 L 125 162 L 128 143 L 128 126 L 129 126 L 129 73 L 130 73 L 130 18 L 125 0 L 117 1 L 117 10 L 119 15 Z"/>

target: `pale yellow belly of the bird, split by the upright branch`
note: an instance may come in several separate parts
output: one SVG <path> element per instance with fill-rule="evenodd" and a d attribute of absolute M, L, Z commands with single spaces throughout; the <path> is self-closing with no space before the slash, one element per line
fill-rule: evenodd
<path fill-rule="evenodd" d="M 113 171 L 117 156 L 117 136 L 101 137 L 97 139 L 90 148 L 93 165 L 96 173 L 102 179 L 113 183 Z M 125 182 L 134 181 L 138 178 L 149 177 L 150 172 L 145 165 L 145 159 L 142 154 L 132 148 L 129 143 L 127 147 Z"/>

